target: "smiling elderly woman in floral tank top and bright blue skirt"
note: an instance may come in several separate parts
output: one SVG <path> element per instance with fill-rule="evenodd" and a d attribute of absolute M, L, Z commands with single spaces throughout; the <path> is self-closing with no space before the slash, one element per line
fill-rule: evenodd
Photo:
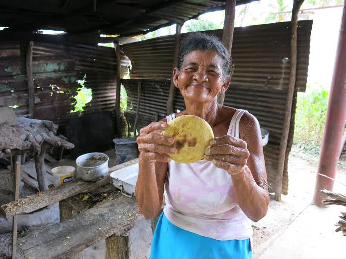
<path fill-rule="evenodd" d="M 138 207 L 153 218 L 164 189 L 166 201 L 150 259 L 252 258 L 251 220 L 266 215 L 270 199 L 257 119 L 216 102 L 229 87 L 230 60 L 216 37 L 195 33 L 183 40 L 173 82 L 186 109 L 140 130 Z M 191 164 L 171 160 L 174 139 L 160 133 L 187 114 L 206 120 L 215 136 L 204 159 Z"/>

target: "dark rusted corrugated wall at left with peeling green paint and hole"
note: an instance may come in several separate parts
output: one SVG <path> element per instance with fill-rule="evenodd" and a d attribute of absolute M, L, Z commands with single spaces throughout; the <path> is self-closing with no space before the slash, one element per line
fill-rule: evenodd
<path fill-rule="evenodd" d="M 28 113 L 26 45 L 0 43 L 0 105 L 18 105 L 19 115 Z M 129 60 L 123 57 L 122 76 Z M 113 110 L 116 94 L 116 56 L 113 48 L 87 45 L 33 43 L 35 118 L 53 120 L 64 131 L 67 119 L 79 114 L 73 109 L 76 80 L 86 75 L 85 87 L 92 100 L 85 113 Z"/>

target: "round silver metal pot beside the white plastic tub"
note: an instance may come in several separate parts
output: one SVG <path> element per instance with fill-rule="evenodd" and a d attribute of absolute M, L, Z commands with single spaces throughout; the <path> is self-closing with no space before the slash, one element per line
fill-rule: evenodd
<path fill-rule="evenodd" d="M 108 174 L 109 157 L 103 153 L 88 153 L 76 159 L 77 178 L 83 181 L 97 181 Z"/>

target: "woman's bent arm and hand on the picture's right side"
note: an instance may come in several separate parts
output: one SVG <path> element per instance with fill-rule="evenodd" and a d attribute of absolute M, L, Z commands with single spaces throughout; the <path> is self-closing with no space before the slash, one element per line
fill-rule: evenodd
<path fill-rule="evenodd" d="M 257 119 L 245 113 L 239 131 L 240 139 L 227 135 L 212 140 L 205 159 L 231 175 L 239 207 L 258 221 L 267 214 L 270 201 L 261 130 Z"/>

